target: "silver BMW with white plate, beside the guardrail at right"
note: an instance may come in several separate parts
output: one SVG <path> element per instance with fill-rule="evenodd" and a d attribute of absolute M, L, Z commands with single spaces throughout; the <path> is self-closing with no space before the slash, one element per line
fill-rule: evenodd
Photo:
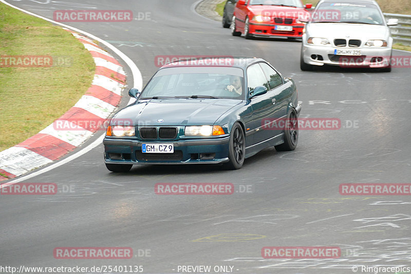
<path fill-rule="evenodd" d="M 321 0 L 306 20 L 300 67 L 369 67 L 391 71 L 393 38 L 373 0 Z"/>

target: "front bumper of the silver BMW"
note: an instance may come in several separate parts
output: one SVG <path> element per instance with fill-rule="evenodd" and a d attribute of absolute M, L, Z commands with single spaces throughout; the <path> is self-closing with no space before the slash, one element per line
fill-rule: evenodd
<path fill-rule="evenodd" d="M 337 55 L 335 50 L 359 50 L 361 55 Z M 391 48 L 333 47 L 303 44 L 304 63 L 322 66 L 381 68 L 390 64 Z M 321 60 L 322 59 L 322 60 Z"/>

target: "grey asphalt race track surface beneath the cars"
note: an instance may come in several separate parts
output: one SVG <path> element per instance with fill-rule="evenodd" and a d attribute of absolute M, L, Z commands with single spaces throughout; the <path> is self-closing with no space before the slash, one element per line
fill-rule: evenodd
<path fill-rule="evenodd" d="M 300 131 L 294 152 L 266 149 L 237 171 L 135 166 L 115 174 L 106 170 L 99 145 L 24 181 L 54 182 L 65 191 L 0 197 L 0 265 L 141 265 L 143 273 L 177 273 L 179 265 L 223 265 L 241 274 L 353 273 L 354 265 L 411 267 L 409 196 L 339 194 L 343 183 L 410 182 L 409 68 L 303 72 L 300 42 L 233 37 L 219 22 L 196 14 L 194 0 L 8 2 L 50 19 L 53 10 L 61 9 L 149 12 L 150 20 L 130 23 L 66 24 L 118 47 L 137 64 L 144 84 L 157 70 L 156 56 L 264 58 L 296 81 L 301 117 L 339 118 L 342 127 Z M 123 98 L 122 105 L 127 101 Z M 236 192 L 156 195 L 158 182 L 232 182 Z M 249 191 L 242 192 L 246 186 Z M 339 246 L 342 255 L 263 259 L 265 246 Z M 57 260 L 56 247 L 131 247 L 134 258 Z"/>

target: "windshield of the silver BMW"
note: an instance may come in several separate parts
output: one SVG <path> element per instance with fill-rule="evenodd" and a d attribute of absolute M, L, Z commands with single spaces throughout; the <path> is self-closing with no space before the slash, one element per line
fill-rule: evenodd
<path fill-rule="evenodd" d="M 384 25 L 377 6 L 362 3 L 323 3 L 312 13 L 311 22 Z"/>

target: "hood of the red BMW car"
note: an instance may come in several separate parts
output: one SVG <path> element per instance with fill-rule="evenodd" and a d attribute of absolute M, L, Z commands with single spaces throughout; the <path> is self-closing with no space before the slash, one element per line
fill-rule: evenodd
<path fill-rule="evenodd" d="M 305 18 L 310 14 L 304 8 L 292 8 L 282 6 L 255 5 L 248 6 L 248 9 L 254 15 L 263 15 L 271 17 Z"/>

